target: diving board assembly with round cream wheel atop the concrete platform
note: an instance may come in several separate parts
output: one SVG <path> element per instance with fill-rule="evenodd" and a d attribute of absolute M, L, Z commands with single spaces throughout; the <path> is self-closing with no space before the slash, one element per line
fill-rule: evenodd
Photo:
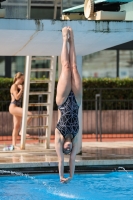
<path fill-rule="evenodd" d="M 85 0 L 84 4 L 64 9 L 63 20 L 125 20 L 126 10 L 123 4 L 133 0 Z"/>

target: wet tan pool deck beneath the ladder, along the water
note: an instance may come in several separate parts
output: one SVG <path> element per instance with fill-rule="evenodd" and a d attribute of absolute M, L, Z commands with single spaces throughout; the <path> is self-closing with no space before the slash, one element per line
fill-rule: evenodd
<path fill-rule="evenodd" d="M 0 145 L 0 169 L 55 168 L 58 170 L 58 159 L 54 149 L 45 150 L 43 144 L 26 145 L 26 150 L 3 152 Z M 69 156 L 65 156 L 65 166 Z M 124 142 L 83 142 L 82 155 L 76 156 L 76 167 L 91 169 L 109 169 L 123 166 L 133 169 L 133 141 Z M 100 167 L 100 168 L 99 168 Z"/>

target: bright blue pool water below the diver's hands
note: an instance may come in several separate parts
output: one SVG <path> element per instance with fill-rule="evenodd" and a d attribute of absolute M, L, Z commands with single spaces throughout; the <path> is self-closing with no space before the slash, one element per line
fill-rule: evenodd
<path fill-rule="evenodd" d="M 75 174 L 68 184 L 57 174 L 0 177 L 0 200 L 56 199 L 133 200 L 133 172 Z"/>

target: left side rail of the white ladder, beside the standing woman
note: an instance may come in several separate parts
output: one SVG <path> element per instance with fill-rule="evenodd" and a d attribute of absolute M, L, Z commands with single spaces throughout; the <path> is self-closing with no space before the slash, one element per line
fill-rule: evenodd
<path fill-rule="evenodd" d="M 21 149 L 25 149 L 25 136 L 27 127 L 27 112 L 29 102 L 29 83 L 31 72 L 31 56 L 26 56 L 25 66 L 25 81 L 24 81 L 24 97 L 23 97 L 23 116 L 22 116 L 22 135 L 21 135 Z"/>

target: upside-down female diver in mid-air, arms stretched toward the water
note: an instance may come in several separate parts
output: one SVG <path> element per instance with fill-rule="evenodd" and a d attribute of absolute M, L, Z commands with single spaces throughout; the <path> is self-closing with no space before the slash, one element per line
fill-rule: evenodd
<path fill-rule="evenodd" d="M 72 179 L 75 170 L 79 132 L 78 110 L 81 103 L 82 85 L 77 70 L 72 29 L 64 27 L 62 36 L 62 72 L 58 81 L 56 95 L 59 121 L 55 129 L 55 149 L 59 160 L 60 181 L 67 183 Z M 70 154 L 70 176 L 68 178 L 64 178 L 64 154 Z"/>

